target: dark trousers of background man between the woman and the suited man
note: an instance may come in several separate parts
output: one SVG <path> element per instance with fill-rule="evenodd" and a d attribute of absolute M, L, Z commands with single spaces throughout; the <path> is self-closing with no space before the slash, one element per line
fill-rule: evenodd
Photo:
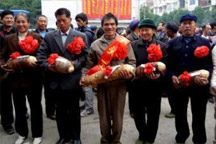
<path fill-rule="evenodd" d="M 56 110 L 56 97 L 51 94 L 51 89 L 46 84 L 44 85 L 44 96 L 45 96 L 45 109 L 46 115 L 52 116 Z"/>

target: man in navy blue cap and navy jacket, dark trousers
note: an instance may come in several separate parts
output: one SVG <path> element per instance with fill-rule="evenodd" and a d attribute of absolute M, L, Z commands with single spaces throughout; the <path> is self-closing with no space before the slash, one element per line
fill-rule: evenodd
<path fill-rule="evenodd" d="M 192 72 L 205 69 L 212 73 L 212 57 L 209 41 L 195 35 L 197 17 L 193 14 L 185 14 L 180 18 L 182 36 L 168 42 L 168 74 L 175 87 L 175 124 L 176 142 L 185 143 L 189 137 L 187 122 L 187 106 L 190 99 L 192 111 L 193 143 L 205 144 L 207 141 L 205 130 L 206 105 L 209 97 L 209 79 L 193 77 L 193 85 L 187 86 L 180 83 L 178 76 L 184 71 Z M 206 46 L 209 54 L 197 58 L 194 51 L 197 47 Z"/>

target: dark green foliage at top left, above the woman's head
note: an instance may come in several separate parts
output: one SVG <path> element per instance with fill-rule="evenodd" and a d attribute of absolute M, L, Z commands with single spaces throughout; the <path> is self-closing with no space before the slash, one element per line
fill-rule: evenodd
<path fill-rule="evenodd" d="M 41 0 L 0 0 L 0 9 L 23 9 L 30 12 L 31 27 L 41 14 Z"/>

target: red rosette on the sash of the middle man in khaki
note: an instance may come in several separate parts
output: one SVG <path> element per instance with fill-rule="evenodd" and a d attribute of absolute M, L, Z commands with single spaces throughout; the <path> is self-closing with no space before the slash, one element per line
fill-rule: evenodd
<path fill-rule="evenodd" d="M 114 41 L 113 45 L 116 46 L 115 52 L 113 54 L 113 59 L 124 60 L 128 55 L 127 45 L 118 41 Z"/>

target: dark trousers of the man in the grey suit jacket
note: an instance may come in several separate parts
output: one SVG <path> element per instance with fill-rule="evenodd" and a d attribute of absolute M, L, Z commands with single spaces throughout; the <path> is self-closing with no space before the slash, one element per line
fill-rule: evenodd
<path fill-rule="evenodd" d="M 81 120 L 79 92 L 56 88 L 51 91 L 56 97 L 56 122 L 60 138 L 80 139 Z"/>

